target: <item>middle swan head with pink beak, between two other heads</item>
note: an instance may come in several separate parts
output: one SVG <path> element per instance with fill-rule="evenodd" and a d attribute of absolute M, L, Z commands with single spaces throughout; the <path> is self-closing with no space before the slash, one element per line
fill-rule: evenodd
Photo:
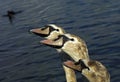
<path fill-rule="evenodd" d="M 41 43 L 63 50 L 74 61 L 89 59 L 86 43 L 76 35 L 64 34 L 55 40 L 43 40 Z"/>

